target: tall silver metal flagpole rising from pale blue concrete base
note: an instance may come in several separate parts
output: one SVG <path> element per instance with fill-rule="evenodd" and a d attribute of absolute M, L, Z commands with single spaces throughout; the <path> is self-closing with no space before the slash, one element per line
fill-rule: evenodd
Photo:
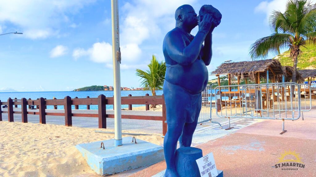
<path fill-rule="evenodd" d="M 112 54 L 114 81 L 114 146 L 122 146 L 122 115 L 121 115 L 121 54 L 119 49 L 119 9 L 118 0 L 111 0 L 112 6 Z"/>

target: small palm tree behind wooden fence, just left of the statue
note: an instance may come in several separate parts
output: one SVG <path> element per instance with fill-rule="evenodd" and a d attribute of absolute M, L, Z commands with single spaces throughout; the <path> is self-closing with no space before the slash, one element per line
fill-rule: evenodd
<path fill-rule="evenodd" d="M 164 61 L 159 63 L 156 56 L 153 55 L 148 67 L 149 70 L 147 71 L 136 69 L 136 75 L 141 77 L 141 87 L 143 87 L 144 90 L 150 90 L 152 95 L 155 96 L 156 90 L 161 90 L 163 87 L 166 74 L 166 63 Z M 156 105 L 151 105 L 151 108 L 156 108 Z"/>

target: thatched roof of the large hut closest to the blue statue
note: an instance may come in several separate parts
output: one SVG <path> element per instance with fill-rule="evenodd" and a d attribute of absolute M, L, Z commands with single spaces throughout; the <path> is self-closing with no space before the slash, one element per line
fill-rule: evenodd
<path fill-rule="evenodd" d="M 241 78 L 250 78 L 251 80 L 258 81 L 259 77 L 266 79 L 267 71 L 269 78 L 273 80 L 282 80 L 284 74 L 283 67 L 279 60 L 255 60 L 255 61 L 240 61 L 232 63 L 222 63 L 211 74 L 214 75 L 235 75 Z"/>

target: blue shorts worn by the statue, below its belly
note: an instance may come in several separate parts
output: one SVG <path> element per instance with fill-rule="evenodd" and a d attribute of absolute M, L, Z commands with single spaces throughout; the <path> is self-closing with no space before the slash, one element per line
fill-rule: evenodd
<path fill-rule="evenodd" d="M 185 88 L 165 80 L 163 94 L 166 102 L 168 124 L 178 124 L 179 120 L 176 117 L 184 119 L 185 123 L 192 123 L 198 119 L 202 106 L 201 93 L 191 94 Z"/>

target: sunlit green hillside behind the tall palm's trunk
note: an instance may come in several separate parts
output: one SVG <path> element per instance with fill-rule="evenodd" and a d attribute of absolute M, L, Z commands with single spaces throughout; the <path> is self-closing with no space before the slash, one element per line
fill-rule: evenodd
<path fill-rule="evenodd" d="M 316 46 L 306 45 L 306 47 L 307 49 L 301 47 L 303 53 L 298 58 L 297 67 L 300 69 L 316 69 Z M 289 51 L 274 57 L 274 59 L 280 60 L 282 66 L 293 66 Z"/>

